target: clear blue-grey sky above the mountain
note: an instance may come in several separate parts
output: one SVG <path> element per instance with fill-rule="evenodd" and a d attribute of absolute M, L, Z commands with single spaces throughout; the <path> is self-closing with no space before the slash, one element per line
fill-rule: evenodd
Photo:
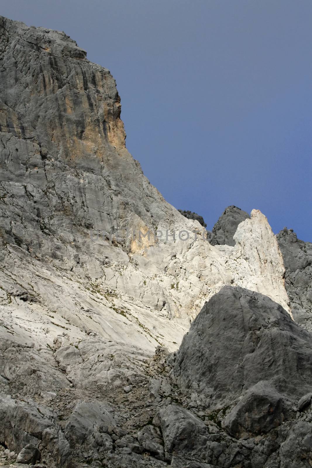
<path fill-rule="evenodd" d="M 210 229 L 228 205 L 312 241 L 312 0 L 0 0 L 109 68 L 127 147 Z"/>

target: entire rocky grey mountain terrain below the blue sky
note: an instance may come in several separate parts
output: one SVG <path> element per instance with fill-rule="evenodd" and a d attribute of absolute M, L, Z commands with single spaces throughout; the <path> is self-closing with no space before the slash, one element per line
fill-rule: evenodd
<path fill-rule="evenodd" d="M 120 113 L 65 33 L 0 17 L 0 465 L 310 466 L 309 246 L 285 273 L 235 207 L 212 245 Z"/>

